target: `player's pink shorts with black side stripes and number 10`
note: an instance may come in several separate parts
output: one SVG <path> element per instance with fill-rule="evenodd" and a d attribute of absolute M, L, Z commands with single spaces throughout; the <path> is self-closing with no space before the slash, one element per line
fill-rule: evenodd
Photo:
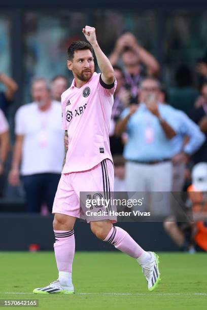
<path fill-rule="evenodd" d="M 87 222 L 107 219 L 116 222 L 117 217 L 113 215 L 113 212 L 108 212 L 108 209 L 105 213 L 99 212 L 98 216 L 93 216 L 97 211 L 106 211 L 105 207 L 86 207 L 86 199 L 92 199 L 94 193 L 96 197 L 98 195 L 98 197 L 108 199 L 110 195 L 113 195 L 113 190 L 114 166 L 109 159 L 103 160 L 87 171 L 62 174 L 57 187 L 52 213 L 74 216 L 87 220 Z M 110 206 L 109 210 L 113 211 L 113 208 Z"/>

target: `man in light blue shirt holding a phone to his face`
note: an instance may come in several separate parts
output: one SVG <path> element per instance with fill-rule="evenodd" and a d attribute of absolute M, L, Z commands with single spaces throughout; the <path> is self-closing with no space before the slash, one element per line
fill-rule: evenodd
<path fill-rule="evenodd" d="M 167 105 L 158 102 L 159 83 L 148 78 L 141 84 L 142 103 L 131 105 L 121 115 L 116 134 L 125 130 L 124 147 L 128 191 L 170 191 L 172 165 L 170 139 L 178 121 Z"/>

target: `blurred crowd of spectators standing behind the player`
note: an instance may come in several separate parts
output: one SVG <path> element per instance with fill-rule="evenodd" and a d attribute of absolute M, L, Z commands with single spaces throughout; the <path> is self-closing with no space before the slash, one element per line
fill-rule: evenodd
<path fill-rule="evenodd" d="M 207 191 L 207 57 L 195 68 L 199 89 L 194 88 L 192 72 L 185 64 L 177 69 L 176 86 L 166 88 L 160 82 L 159 63 L 132 33 L 118 38 L 109 59 L 117 80 L 110 124 L 115 191 L 148 192 L 152 204 L 150 193 L 187 191 L 188 208 L 196 205 L 197 214 L 207 211 L 204 194 L 199 199 L 190 195 Z M 68 81 L 61 75 L 50 83 L 45 78 L 32 81 L 32 102 L 15 114 L 12 147 L 8 107 L 18 86 L 3 73 L 0 83 L 5 86 L 0 93 L 0 197 L 8 184 L 21 184 L 28 212 L 50 212 L 64 157 L 60 100 Z M 168 207 L 164 227 L 170 237 L 189 251 L 195 249 L 194 234 L 196 250 L 207 251 L 206 222 L 198 215 L 195 225 L 199 225 L 185 223 L 183 227 L 176 217 L 167 217 Z"/>

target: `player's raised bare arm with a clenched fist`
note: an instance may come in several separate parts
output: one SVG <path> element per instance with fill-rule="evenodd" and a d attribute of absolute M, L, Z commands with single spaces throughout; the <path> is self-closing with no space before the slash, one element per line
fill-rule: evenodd
<path fill-rule="evenodd" d="M 85 26 L 85 28 L 83 28 L 83 33 L 84 33 L 87 41 L 93 47 L 93 50 L 94 50 L 94 53 L 95 53 L 95 56 L 97 59 L 98 67 L 102 72 L 101 73 L 101 80 L 105 84 L 108 84 L 108 85 L 113 84 L 115 81 L 114 69 L 112 67 L 111 62 L 109 61 L 107 56 L 101 51 L 101 49 L 97 43 L 97 39 L 96 39 L 96 35 L 95 35 L 95 28 L 90 27 L 90 26 Z"/>

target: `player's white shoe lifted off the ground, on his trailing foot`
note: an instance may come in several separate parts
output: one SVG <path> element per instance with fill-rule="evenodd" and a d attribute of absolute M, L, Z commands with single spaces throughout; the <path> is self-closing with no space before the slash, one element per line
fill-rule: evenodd
<path fill-rule="evenodd" d="M 142 272 L 147 279 L 148 283 L 148 290 L 150 292 L 154 291 L 154 289 L 157 287 L 160 279 L 160 273 L 159 273 L 159 256 L 154 252 L 148 252 L 151 255 L 151 260 L 148 265 L 141 265 L 142 266 Z"/>

